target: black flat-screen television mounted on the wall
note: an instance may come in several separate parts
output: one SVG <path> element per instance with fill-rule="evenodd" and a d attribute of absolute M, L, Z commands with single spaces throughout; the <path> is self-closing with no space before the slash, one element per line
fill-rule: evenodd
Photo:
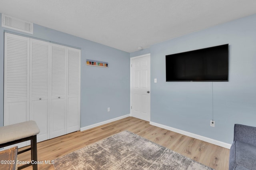
<path fill-rule="evenodd" d="M 228 81 L 228 44 L 166 55 L 166 81 Z"/>

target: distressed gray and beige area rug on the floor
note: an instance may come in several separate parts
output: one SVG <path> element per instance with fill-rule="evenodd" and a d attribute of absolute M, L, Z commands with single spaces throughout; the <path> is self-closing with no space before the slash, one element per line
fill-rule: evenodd
<path fill-rule="evenodd" d="M 213 170 L 123 131 L 54 160 L 55 170 Z"/>

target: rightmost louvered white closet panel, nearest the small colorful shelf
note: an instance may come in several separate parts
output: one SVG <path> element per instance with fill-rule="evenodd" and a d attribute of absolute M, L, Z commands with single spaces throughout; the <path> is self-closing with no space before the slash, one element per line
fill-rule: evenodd
<path fill-rule="evenodd" d="M 68 47 L 67 133 L 80 130 L 80 53 Z"/>

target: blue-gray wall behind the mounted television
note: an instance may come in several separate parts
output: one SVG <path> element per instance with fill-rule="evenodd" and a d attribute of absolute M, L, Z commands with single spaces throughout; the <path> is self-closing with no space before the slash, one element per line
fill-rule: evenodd
<path fill-rule="evenodd" d="M 166 82 L 165 55 L 226 43 L 229 81 L 213 82 L 213 93 L 212 82 Z M 152 45 L 150 53 L 152 122 L 230 144 L 235 123 L 256 126 L 256 15 Z"/>

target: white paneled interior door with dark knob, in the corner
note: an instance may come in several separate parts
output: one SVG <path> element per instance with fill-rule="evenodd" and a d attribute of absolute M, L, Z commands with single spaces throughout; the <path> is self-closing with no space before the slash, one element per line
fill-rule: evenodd
<path fill-rule="evenodd" d="M 130 59 L 131 116 L 150 121 L 150 54 Z"/>

